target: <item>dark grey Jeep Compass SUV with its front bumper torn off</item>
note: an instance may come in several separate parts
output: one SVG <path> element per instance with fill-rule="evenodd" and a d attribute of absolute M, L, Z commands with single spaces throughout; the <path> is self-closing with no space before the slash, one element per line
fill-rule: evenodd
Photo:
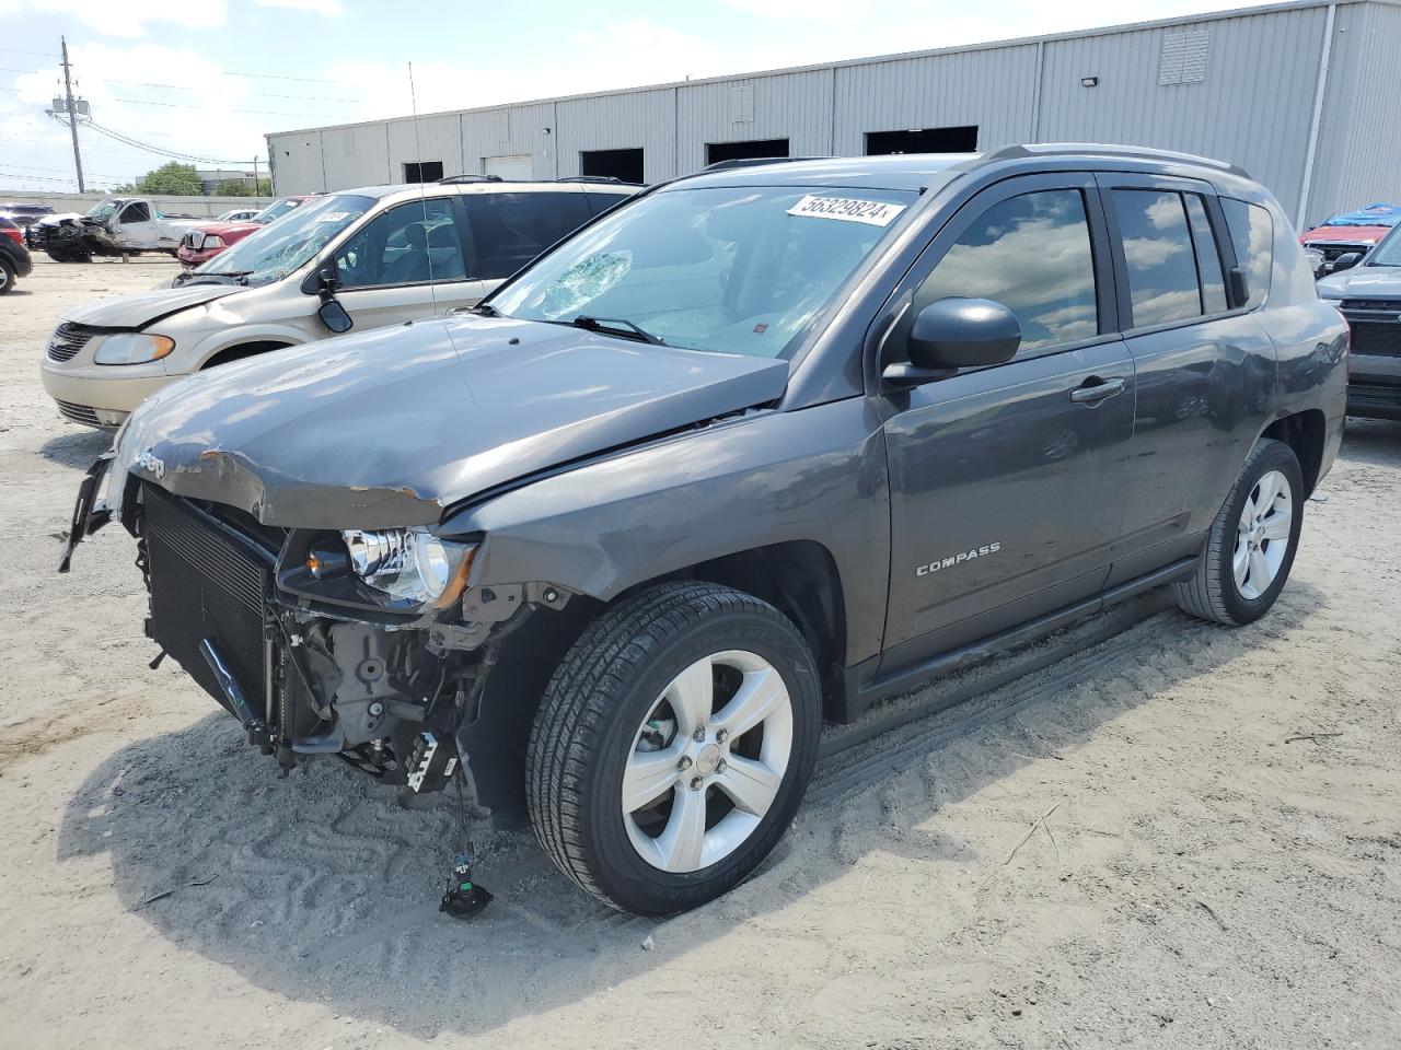
<path fill-rule="evenodd" d="M 681 178 L 472 312 L 165 388 L 64 560 L 116 515 L 283 767 L 460 778 L 650 914 L 759 864 L 824 720 L 1163 584 L 1264 615 L 1346 398 L 1274 197 L 1114 147 Z"/>

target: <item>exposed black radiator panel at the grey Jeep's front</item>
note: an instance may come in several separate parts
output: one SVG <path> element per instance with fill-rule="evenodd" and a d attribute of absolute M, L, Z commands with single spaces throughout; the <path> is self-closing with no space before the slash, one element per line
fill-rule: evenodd
<path fill-rule="evenodd" d="M 262 717 L 268 706 L 263 603 L 273 554 L 163 489 L 146 484 L 142 493 L 151 637 L 224 704 L 199 652 L 199 644 L 213 638 L 248 706 Z"/>

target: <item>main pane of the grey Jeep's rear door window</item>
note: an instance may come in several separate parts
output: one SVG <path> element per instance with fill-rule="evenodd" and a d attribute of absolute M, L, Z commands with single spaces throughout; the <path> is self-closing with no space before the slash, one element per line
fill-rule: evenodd
<path fill-rule="evenodd" d="M 1117 189 L 1114 214 L 1124 238 L 1133 328 L 1202 315 L 1196 252 L 1181 193 Z"/>

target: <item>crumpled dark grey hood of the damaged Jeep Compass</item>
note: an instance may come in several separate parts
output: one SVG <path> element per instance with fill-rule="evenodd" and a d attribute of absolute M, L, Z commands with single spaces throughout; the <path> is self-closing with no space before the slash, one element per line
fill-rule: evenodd
<path fill-rule="evenodd" d="M 524 475 L 778 399 L 787 363 L 507 318 L 279 350 L 147 399 L 118 461 L 269 525 L 436 524 Z"/>

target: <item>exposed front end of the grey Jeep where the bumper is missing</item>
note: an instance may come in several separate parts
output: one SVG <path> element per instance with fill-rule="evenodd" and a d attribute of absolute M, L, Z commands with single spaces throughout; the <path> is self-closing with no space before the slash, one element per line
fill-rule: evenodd
<path fill-rule="evenodd" d="M 455 731 L 464 682 L 485 675 L 481 662 L 432 647 L 427 630 L 328 620 L 280 599 L 276 538 L 247 535 L 206 507 L 136 484 L 113 459 L 98 458 L 78 486 L 59 571 L 120 514 L 146 578 L 146 633 L 161 647 L 153 668 L 174 657 L 283 770 L 336 755 L 416 792 L 440 791 L 454 777 L 472 784 Z M 125 493 L 113 490 L 126 480 Z"/>

